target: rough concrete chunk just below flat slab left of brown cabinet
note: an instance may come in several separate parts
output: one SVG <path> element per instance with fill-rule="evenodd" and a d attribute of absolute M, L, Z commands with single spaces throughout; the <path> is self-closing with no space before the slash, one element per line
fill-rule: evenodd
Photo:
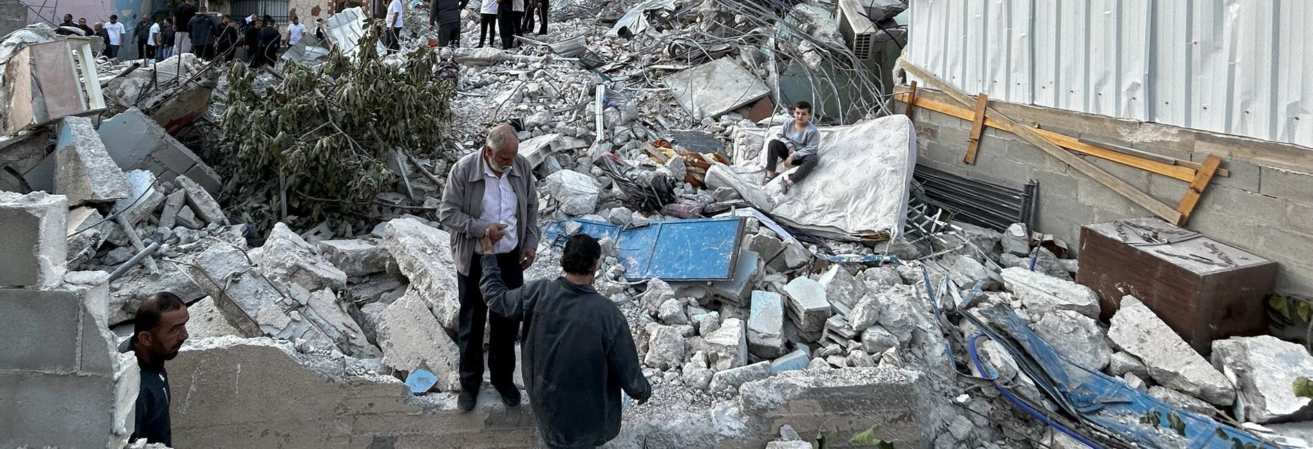
<path fill-rule="evenodd" d="M 1077 365 L 1103 370 L 1112 357 L 1112 348 L 1092 318 L 1071 310 L 1053 310 L 1031 324 L 1035 335 Z"/>

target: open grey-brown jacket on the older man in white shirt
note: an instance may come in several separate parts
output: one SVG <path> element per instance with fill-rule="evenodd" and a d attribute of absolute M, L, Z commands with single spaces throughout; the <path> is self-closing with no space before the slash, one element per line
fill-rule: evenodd
<path fill-rule="evenodd" d="M 479 219 L 483 215 L 483 150 L 461 156 L 461 160 L 452 165 L 446 173 L 446 189 L 442 190 L 442 205 L 437 209 L 437 219 L 452 234 L 452 257 L 454 257 L 456 270 L 461 274 L 470 273 L 470 260 L 478 239 L 487 232 L 488 222 Z M 533 167 L 529 160 L 516 155 L 511 171 L 511 189 L 515 190 L 519 206 L 516 207 L 516 234 L 520 248 L 538 247 L 538 181 L 533 177 Z M 475 281 L 478 282 L 478 281 Z"/>

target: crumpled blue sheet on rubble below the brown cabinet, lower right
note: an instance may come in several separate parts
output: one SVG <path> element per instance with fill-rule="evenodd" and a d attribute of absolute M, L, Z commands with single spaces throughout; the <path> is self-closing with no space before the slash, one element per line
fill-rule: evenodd
<path fill-rule="evenodd" d="M 1020 344 L 1040 365 L 1048 379 L 1035 379 L 1036 382 L 1050 383 L 1066 396 L 1085 421 L 1117 435 L 1127 442 L 1142 448 L 1279 449 L 1241 429 L 1175 408 L 1120 379 L 1071 362 L 1031 332 L 1011 309 L 993 307 L 981 314 Z"/>

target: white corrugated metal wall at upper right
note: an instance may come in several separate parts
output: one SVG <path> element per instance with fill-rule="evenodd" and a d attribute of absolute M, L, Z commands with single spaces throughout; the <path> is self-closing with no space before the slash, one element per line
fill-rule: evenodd
<path fill-rule="evenodd" d="M 966 93 L 1313 147 L 1310 0 L 913 0 L 910 16 L 907 60 Z"/>

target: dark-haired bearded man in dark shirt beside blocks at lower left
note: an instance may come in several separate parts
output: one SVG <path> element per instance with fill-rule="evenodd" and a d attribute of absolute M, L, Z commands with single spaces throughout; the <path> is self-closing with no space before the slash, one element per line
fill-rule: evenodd
<path fill-rule="evenodd" d="M 142 369 L 142 387 L 137 394 L 137 429 L 129 441 L 173 445 L 169 427 L 168 373 L 164 361 L 177 357 L 186 341 L 186 305 L 176 294 L 160 291 L 142 299 L 137 307 L 133 336 L 118 345 L 118 352 L 137 353 Z"/>

